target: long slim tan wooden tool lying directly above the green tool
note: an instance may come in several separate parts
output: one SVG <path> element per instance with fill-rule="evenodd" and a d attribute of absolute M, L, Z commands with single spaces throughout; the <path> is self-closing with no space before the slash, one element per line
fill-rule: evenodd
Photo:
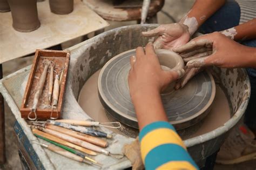
<path fill-rule="evenodd" d="M 95 151 L 95 152 L 103 153 L 105 155 L 109 155 L 110 154 L 109 151 L 106 151 L 105 149 L 100 148 L 99 146 L 96 146 L 96 145 L 90 144 L 89 142 L 86 142 L 86 141 L 83 141 L 83 140 L 71 137 L 71 136 L 66 135 L 64 133 L 60 133 L 60 132 L 57 132 L 57 131 L 54 131 L 54 130 L 50 130 L 49 128 L 44 128 L 44 127 L 37 127 L 37 129 L 40 130 L 40 131 L 43 131 L 45 133 L 51 134 L 51 135 L 53 135 L 53 136 L 55 136 L 57 138 L 60 138 L 62 140 L 71 142 L 71 143 L 73 143 L 75 145 L 82 146 L 82 147 L 84 147 L 86 149 L 90 149 L 90 150 Z"/>

